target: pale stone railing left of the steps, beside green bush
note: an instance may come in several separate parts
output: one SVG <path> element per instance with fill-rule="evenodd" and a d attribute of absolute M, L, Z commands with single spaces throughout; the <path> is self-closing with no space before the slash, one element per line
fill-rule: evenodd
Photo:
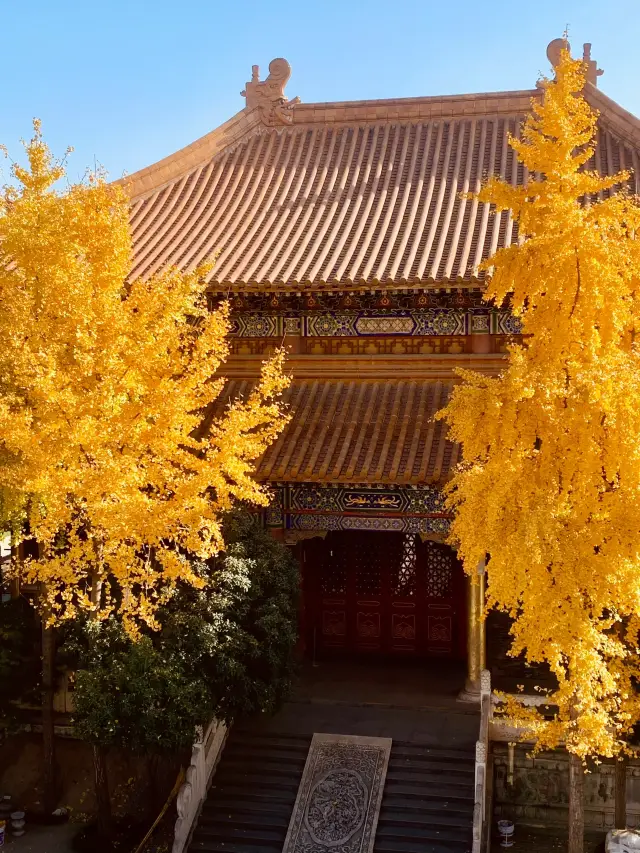
<path fill-rule="evenodd" d="M 202 729 L 197 731 L 191 762 L 176 797 L 178 819 L 171 853 L 183 853 L 187 847 L 226 738 L 227 727 L 217 720 L 209 723 L 204 732 Z"/>

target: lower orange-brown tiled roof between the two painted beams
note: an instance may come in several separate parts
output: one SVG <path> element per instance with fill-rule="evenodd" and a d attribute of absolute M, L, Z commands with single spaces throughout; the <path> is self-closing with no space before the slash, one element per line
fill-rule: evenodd
<path fill-rule="evenodd" d="M 217 411 L 246 397 L 251 380 L 230 380 Z M 258 479 L 285 483 L 442 483 L 460 446 L 436 420 L 452 381 L 294 380 L 284 394 L 291 420 L 260 460 Z"/>

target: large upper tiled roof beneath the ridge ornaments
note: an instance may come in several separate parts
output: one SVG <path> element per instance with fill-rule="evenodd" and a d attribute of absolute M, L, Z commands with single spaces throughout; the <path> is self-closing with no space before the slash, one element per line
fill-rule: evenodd
<path fill-rule="evenodd" d="M 591 165 L 631 168 L 637 191 L 640 121 L 591 84 L 585 92 L 600 112 Z M 245 108 L 120 181 L 132 277 L 217 258 L 207 279 L 217 292 L 478 286 L 517 223 L 463 196 L 488 175 L 526 180 L 508 138 L 540 95 L 299 104 L 276 127 Z"/>

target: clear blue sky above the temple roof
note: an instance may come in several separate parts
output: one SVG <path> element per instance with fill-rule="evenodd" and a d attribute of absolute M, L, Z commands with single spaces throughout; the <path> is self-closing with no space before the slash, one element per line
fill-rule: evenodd
<path fill-rule="evenodd" d="M 640 116 L 639 0 L 1 0 L 0 142 L 17 154 L 38 116 L 72 179 L 116 178 L 233 115 L 275 56 L 306 102 L 527 89 L 567 24 Z"/>

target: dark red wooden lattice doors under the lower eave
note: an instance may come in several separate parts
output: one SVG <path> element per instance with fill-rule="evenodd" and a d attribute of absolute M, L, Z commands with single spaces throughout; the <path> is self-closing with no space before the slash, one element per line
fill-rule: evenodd
<path fill-rule="evenodd" d="M 462 570 L 412 533 L 336 531 L 305 543 L 309 649 L 454 657 Z"/>

